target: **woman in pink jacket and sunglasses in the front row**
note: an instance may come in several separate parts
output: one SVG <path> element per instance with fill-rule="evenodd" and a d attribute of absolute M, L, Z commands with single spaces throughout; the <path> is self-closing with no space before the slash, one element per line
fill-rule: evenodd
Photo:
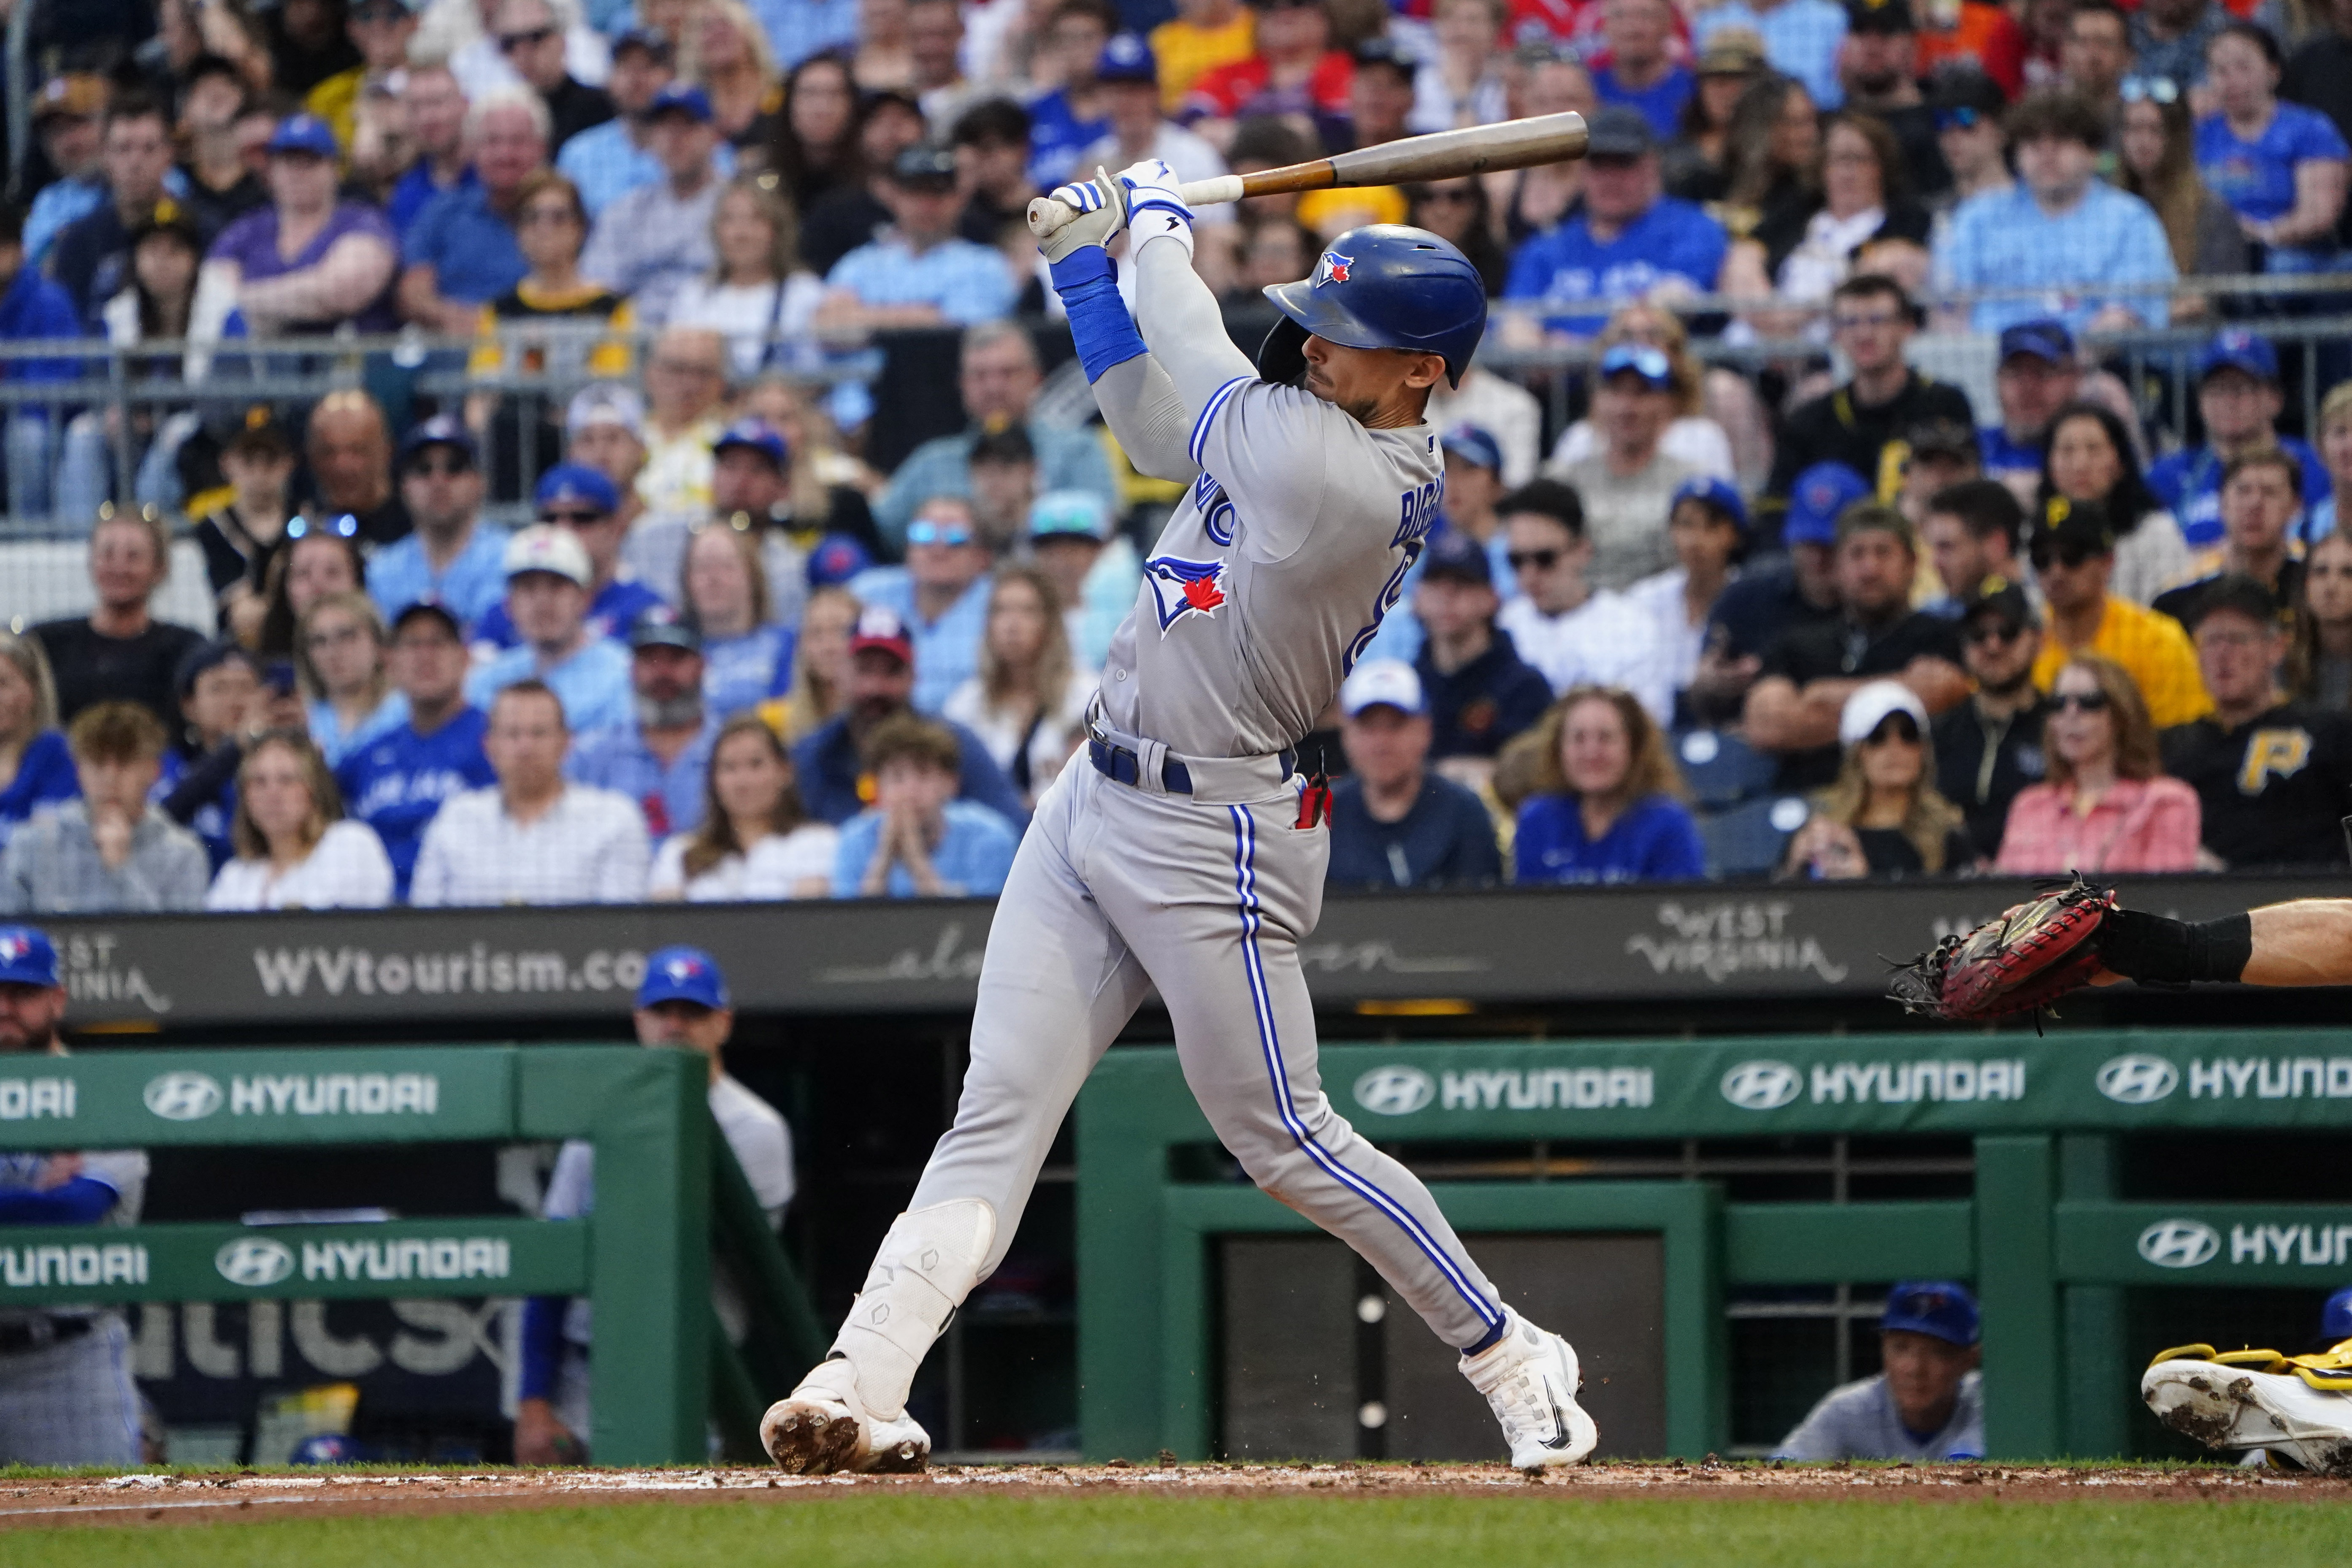
<path fill-rule="evenodd" d="M 2157 766 L 2147 703 L 2122 665 L 2077 654 L 2042 726 L 2049 776 L 2009 804 L 1997 872 L 2197 870 L 2197 792 Z"/>

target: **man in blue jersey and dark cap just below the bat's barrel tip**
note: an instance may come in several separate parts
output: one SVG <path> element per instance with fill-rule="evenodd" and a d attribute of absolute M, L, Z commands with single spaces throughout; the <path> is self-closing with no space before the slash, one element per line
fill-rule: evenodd
<path fill-rule="evenodd" d="M 1592 115 L 1583 212 L 1519 247 L 1503 296 L 1543 301 L 1550 331 L 1592 334 L 1625 299 L 1712 294 L 1729 244 L 1722 223 L 1663 195 L 1658 134 L 1616 103 Z"/>

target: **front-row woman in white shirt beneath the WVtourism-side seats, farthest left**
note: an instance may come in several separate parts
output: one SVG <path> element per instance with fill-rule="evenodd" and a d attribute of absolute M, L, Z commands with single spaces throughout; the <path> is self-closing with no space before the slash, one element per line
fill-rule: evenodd
<path fill-rule="evenodd" d="M 273 729 L 238 766 L 238 856 L 212 879 L 207 910 L 381 910 L 393 863 L 343 797 L 308 736 Z"/>

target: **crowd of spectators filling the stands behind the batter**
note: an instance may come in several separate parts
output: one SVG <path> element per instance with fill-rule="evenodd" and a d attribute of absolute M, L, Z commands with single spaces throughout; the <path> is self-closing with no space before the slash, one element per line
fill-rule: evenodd
<path fill-rule="evenodd" d="M 2345 863 L 2352 381 L 2296 388 L 2352 360 L 2197 280 L 2343 270 L 2352 14 L 214 0 L 35 47 L 0 341 L 172 343 L 132 369 L 191 402 L 7 416 L 92 609 L 0 632 L 0 910 L 997 891 L 1178 501 L 1049 397 L 1025 202 L 1562 108 L 1581 162 L 1202 212 L 1237 334 L 1411 221 L 1581 367 L 1432 407 L 1444 524 L 1301 738 L 1334 886 Z M 402 327 L 461 397 L 235 388 Z M 962 428 L 898 440 L 924 331 Z M 158 614 L 179 536 L 209 628 Z"/>

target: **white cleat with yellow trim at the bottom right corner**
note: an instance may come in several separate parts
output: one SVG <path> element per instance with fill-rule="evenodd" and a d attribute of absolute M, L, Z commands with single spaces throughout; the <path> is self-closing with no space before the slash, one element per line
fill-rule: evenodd
<path fill-rule="evenodd" d="M 2206 1448 L 2267 1448 L 2305 1469 L 2352 1474 L 2352 1340 L 2319 1356 L 2274 1349 L 2166 1349 L 2140 1375 L 2140 1399 Z"/>

